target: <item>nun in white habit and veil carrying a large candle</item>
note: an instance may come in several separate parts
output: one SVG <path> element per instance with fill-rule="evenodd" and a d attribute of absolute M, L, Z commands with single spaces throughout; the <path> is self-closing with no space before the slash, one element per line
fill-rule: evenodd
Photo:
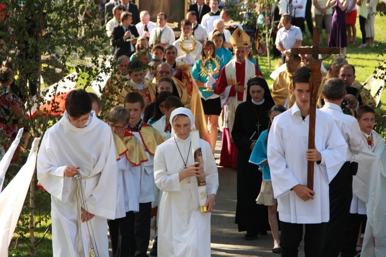
<path fill-rule="evenodd" d="M 210 256 L 210 216 L 218 189 L 215 158 L 209 143 L 200 139 L 203 163 L 194 162 L 190 130 L 195 117 L 189 109 L 175 109 L 170 124 L 171 138 L 157 146 L 154 155 L 154 180 L 163 191 L 158 256 Z M 208 193 L 206 212 L 200 211 L 197 193 L 197 177 L 202 173 Z"/>

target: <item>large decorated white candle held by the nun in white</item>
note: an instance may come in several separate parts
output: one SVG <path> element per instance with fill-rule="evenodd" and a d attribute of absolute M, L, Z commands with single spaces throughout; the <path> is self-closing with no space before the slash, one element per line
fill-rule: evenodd
<path fill-rule="evenodd" d="M 200 133 L 198 130 L 193 129 L 190 131 L 190 138 L 191 138 L 191 149 L 193 150 L 193 159 L 195 162 L 201 162 L 203 166 L 203 159 L 202 159 L 202 152 L 201 152 L 201 144 L 200 144 Z M 208 192 L 206 191 L 206 181 L 205 181 L 205 174 L 202 173 L 201 177 L 197 177 L 197 186 L 198 186 L 198 199 L 200 204 L 200 210 L 202 212 L 207 210 L 206 204 L 206 198 L 208 196 Z"/>

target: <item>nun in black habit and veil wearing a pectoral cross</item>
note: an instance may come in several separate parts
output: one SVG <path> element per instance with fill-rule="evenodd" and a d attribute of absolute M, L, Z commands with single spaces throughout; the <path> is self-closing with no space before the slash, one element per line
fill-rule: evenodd
<path fill-rule="evenodd" d="M 267 207 L 256 204 L 262 177 L 249 158 L 260 133 L 268 128 L 268 112 L 274 101 L 265 79 L 253 78 L 247 85 L 247 101 L 237 106 L 232 130 L 238 149 L 235 223 L 239 232 L 247 231 L 245 240 L 254 240 L 259 233 L 267 233 L 269 224 Z"/>

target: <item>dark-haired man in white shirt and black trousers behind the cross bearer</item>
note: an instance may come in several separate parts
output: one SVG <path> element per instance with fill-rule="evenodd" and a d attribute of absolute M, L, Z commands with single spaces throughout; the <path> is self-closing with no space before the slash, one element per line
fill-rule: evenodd
<path fill-rule="evenodd" d="M 346 97 L 346 88 L 342 80 L 331 78 L 323 86 L 325 104 L 321 111 L 334 118 L 343 138 L 348 145 L 346 162 L 329 184 L 330 221 L 324 235 L 323 256 L 338 256 L 341 238 L 344 236 L 348 221 L 350 204 L 353 198 L 353 174 L 350 162 L 356 160 L 355 155 L 362 151 L 363 143 L 358 121 L 351 115 L 342 112 L 341 103 Z M 354 115 L 354 112 L 352 112 Z M 351 164 L 352 167 L 357 162 Z"/>

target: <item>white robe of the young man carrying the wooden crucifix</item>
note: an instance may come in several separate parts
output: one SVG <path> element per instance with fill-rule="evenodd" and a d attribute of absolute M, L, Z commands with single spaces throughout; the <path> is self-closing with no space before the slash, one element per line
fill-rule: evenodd
<path fill-rule="evenodd" d="M 268 136 L 268 162 L 280 221 L 318 224 L 329 221 L 329 182 L 346 161 L 347 144 L 331 115 L 317 110 L 315 148 L 322 155 L 314 164 L 314 199 L 303 201 L 291 189 L 307 185 L 309 115 L 303 120 L 296 103 L 273 120 Z"/>

